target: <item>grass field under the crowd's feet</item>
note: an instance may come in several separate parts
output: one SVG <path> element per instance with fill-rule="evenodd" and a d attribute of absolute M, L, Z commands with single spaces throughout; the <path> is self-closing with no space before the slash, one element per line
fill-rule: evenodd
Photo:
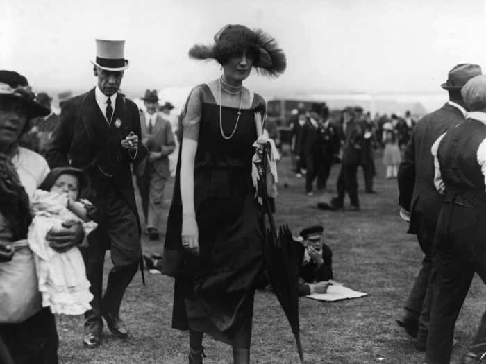
<path fill-rule="evenodd" d="M 406 224 L 396 206 L 396 180 L 385 180 L 380 159 L 376 161 L 376 195 L 363 191 L 361 171 L 360 212 L 319 211 L 319 200 L 330 195 L 307 197 L 304 180 L 290 173 L 290 159 L 279 164 L 279 196 L 276 218 L 288 223 L 294 234 L 307 225 L 324 225 L 327 243 L 333 249 L 335 279 L 357 291 L 368 293 L 356 300 L 324 303 L 308 298 L 300 301 L 301 340 L 305 363 L 423 363 L 424 354 L 395 324 L 421 262 L 414 236 L 405 234 Z M 335 189 L 340 166 L 333 167 L 328 183 Z M 283 188 L 287 182 L 288 187 Z M 170 202 L 173 180 L 167 186 Z M 349 203 L 346 200 L 346 203 Z M 160 253 L 162 242 L 144 239 L 146 253 Z M 111 266 L 109 255 L 105 271 Z M 103 345 L 84 349 L 83 319 L 58 317 L 61 363 L 176 364 L 187 363 L 187 333 L 171 329 L 173 280 L 162 275 L 140 273 L 128 288 L 121 307 L 131 337 L 119 340 L 105 329 Z M 476 332 L 485 309 L 485 287 L 475 278 L 455 336 L 452 363 L 459 360 Z M 205 363 L 231 363 L 231 348 L 205 339 Z M 299 363 L 292 333 L 283 311 L 271 293 L 257 292 L 253 318 L 251 363 Z"/>

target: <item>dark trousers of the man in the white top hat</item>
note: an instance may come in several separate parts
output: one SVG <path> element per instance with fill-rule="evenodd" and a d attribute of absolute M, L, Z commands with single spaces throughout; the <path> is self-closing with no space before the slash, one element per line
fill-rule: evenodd
<path fill-rule="evenodd" d="M 101 331 L 101 315 L 111 313 L 118 317 L 121 300 L 128 284 L 137 272 L 141 255 L 140 235 L 135 212 L 126 205 L 117 189 L 106 189 L 106 223 L 99 225 L 88 236 L 89 245 L 81 249 L 86 266 L 86 276 L 93 294 L 91 310 L 85 313 L 85 330 Z M 105 253 L 111 246 L 114 267 L 108 275 L 105 295 L 103 291 L 103 266 Z"/>

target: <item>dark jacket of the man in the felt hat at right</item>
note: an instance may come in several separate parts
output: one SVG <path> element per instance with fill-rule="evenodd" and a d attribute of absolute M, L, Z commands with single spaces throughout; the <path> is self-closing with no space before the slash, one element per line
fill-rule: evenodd
<path fill-rule="evenodd" d="M 424 116 L 412 130 L 399 168 L 399 205 L 410 211 L 408 232 L 433 240 L 442 198 L 434 186 L 434 159 L 430 148 L 449 128 L 464 121 L 457 107 L 445 104 Z"/>

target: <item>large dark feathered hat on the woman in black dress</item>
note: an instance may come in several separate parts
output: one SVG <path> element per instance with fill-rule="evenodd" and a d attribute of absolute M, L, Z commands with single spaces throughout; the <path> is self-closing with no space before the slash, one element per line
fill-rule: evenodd
<path fill-rule="evenodd" d="M 285 54 L 278 47 L 276 40 L 260 29 L 251 30 L 240 24 L 228 24 L 216 33 L 214 40 L 215 43 L 210 46 L 192 46 L 189 50 L 190 58 L 213 58 L 224 64 L 231 55 L 246 50 L 254 53 L 253 67 L 263 75 L 280 76 L 287 67 Z"/>

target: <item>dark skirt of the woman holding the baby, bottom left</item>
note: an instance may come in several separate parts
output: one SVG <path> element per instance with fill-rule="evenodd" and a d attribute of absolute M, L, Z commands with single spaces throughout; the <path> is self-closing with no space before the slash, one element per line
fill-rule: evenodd
<path fill-rule="evenodd" d="M 0 324 L 0 338 L 15 364 L 58 363 L 56 318 L 49 307 L 19 324 Z"/>

